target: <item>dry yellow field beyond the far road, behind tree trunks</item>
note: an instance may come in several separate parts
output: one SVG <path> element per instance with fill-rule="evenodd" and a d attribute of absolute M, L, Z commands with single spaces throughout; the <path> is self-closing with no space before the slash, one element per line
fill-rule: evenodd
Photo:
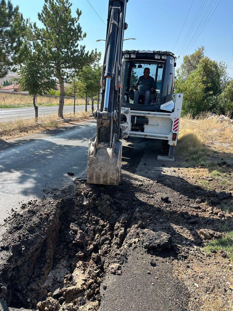
<path fill-rule="evenodd" d="M 95 102 L 94 102 L 95 103 Z M 64 105 L 72 106 L 74 104 L 73 98 L 66 99 Z M 58 106 L 59 98 L 38 96 L 36 100 L 37 106 Z M 85 105 L 85 99 L 76 99 L 76 105 Z M 33 107 L 33 97 L 24 95 L 10 95 L 0 93 L 0 108 L 23 108 Z"/>

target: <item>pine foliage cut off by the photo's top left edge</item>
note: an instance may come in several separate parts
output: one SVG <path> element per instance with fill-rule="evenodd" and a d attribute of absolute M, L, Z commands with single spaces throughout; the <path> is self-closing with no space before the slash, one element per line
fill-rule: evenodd
<path fill-rule="evenodd" d="M 0 0 L 0 78 L 9 70 L 15 70 L 21 62 L 22 36 L 25 21 L 19 7 L 13 7 L 10 0 Z"/>

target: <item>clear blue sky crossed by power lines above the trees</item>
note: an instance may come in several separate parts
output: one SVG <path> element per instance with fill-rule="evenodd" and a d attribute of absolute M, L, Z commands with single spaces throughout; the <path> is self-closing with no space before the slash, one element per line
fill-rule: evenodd
<path fill-rule="evenodd" d="M 30 17 L 31 21 L 36 21 L 38 26 L 42 26 L 37 18 L 37 13 L 42 10 L 43 0 L 11 0 L 11 2 L 14 5 L 19 5 L 20 12 L 23 13 L 25 18 Z M 74 0 L 71 2 L 73 3 L 73 14 L 75 14 L 77 7 L 82 10 L 80 24 L 82 30 L 87 33 L 87 37 L 83 41 L 86 49 L 97 48 L 98 51 L 103 53 L 104 41 L 96 42 L 96 40 L 105 39 L 106 37 L 106 26 L 103 21 L 106 22 L 107 20 L 108 0 L 89 0 L 103 21 L 97 16 L 87 0 Z M 128 29 L 125 31 L 125 38 L 134 37 L 136 40 L 125 41 L 124 49 L 170 50 L 174 53 L 178 52 L 176 54 L 178 56 L 184 53 L 193 53 L 198 46 L 204 45 L 206 56 L 218 62 L 224 61 L 227 67 L 233 68 L 233 0 L 220 0 L 217 6 L 218 2 L 219 0 L 129 0 L 126 10 Z M 212 14 L 212 8 L 216 6 L 216 10 Z M 189 10 L 190 13 L 185 22 Z M 199 31 L 197 35 L 194 35 L 193 42 L 188 46 L 195 30 L 186 44 L 184 39 L 198 11 L 200 15 L 195 29 L 199 22 L 202 21 L 199 27 L 201 30 L 201 26 L 205 25 L 211 14 L 212 16 L 196 42 L 194 43 L 194 39 Z M 207 16 L 210 12 L 207 19 L 204 18 L 205 12 Z M 183 25 L 184 28 L 173 49 Z M 227 70 L 229 76 L 233 78 L 233 69 Z"/>

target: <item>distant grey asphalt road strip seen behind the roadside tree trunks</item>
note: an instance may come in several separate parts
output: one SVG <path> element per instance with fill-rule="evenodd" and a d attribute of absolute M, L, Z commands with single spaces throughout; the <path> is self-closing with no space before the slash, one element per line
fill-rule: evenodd
<path fill-rule="evenodd" d="M 97 105 L 94 105 L 94 108 L 97 108 Z M 91 105 L 88 105 L 87 109 L 91 109 Z M 85 105 L 76 105 L 75 111 L 85 110 Z M 45 106 L 38 108 L 38 114 L 46 115 L 46 114 L 56 114 L 58 111 L 58 106 Z M 63 112 L 73 112 L 73 106 L 64 106 Z M 0 109 L 0 122 L 7 121 L 12 118 L 33 118 L 35 116 L 35 110 L 33 107 L 25 107 L 25 108 L 7 108 Z"/>

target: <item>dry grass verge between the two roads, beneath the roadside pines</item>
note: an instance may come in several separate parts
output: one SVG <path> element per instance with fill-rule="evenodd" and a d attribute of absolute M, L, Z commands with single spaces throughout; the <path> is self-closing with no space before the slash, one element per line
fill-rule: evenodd
<path fill-rule="evenodd" d="M 87 120 L 91 111 L 80 111 L 78 113 L 64 114 L 64 118 L 71 118 L 72 122 L 80 122 Z M 63 126 L 64 123 L 57 123 L 57 114 L 49 114 L 44 117 L 38 118 L 38 123 L 35 122 L 35 118 L 21 119 L 17 118 L 7 122 L 0 122 L 0 138 L 9 139 L 13 137 L 20 137 L 27 134 L 40 132 L 44 129 L 58 128 Z"/>

